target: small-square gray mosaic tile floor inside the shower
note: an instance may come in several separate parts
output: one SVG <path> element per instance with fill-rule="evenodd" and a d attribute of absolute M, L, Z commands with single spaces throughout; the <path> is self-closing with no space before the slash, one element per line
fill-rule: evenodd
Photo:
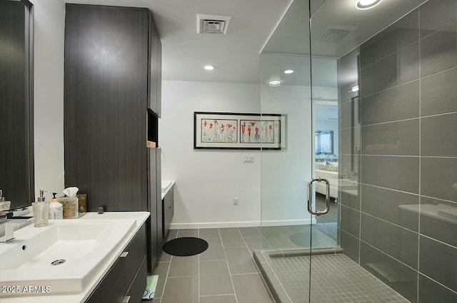
<path fill-rule="evenodd" d="M 271 260 L 299 299 L 298 302 L 308 303 L 309 257 L 277 257 Z M 315 255 L 311 259 L 311 303 L 337 302 L 409 301 L 346 255 Z"/>

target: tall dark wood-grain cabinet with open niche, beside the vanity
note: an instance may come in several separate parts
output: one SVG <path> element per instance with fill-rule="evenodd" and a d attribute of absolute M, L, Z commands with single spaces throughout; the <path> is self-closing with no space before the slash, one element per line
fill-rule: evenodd
<path fill-rule="evenodd" d="M 160 62 L 149 9 L 66 4 L 65 186 L 87 194 L 89 211 L 151 212 L 149 272 L 162 232 L 159 151 L 146 148 L 158 138 Z"/>

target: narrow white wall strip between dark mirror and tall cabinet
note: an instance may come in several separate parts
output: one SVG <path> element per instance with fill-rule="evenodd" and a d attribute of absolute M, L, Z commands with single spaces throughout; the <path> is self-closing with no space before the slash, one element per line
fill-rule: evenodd
<path fill-rule="evenodd" d="M 64 189 L 64 18 L 60 0 L 34 3 L 35 196 Z M 46 194 L 46 200 L 51 195 Z"/>

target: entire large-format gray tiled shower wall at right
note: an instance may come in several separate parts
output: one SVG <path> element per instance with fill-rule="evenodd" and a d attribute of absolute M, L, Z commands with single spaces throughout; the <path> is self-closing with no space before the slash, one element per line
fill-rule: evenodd
<path fill-rule="evenodd" d="M 457 302 L 456 16 L 429 0 L 339 62 L 341 246 L 411 302 Z"/>

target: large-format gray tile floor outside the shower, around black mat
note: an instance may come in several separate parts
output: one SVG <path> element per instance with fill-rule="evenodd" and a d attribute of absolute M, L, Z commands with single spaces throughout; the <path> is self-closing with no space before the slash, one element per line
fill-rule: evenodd
<path fill-rule="evenodd" d="M 164 252 L 154 303 L 273 303 L 251 251 L 260 247 L 257 227 L 170 230 L 176 237 L 201 237 L 209 248 L 199 255 Z"/>

